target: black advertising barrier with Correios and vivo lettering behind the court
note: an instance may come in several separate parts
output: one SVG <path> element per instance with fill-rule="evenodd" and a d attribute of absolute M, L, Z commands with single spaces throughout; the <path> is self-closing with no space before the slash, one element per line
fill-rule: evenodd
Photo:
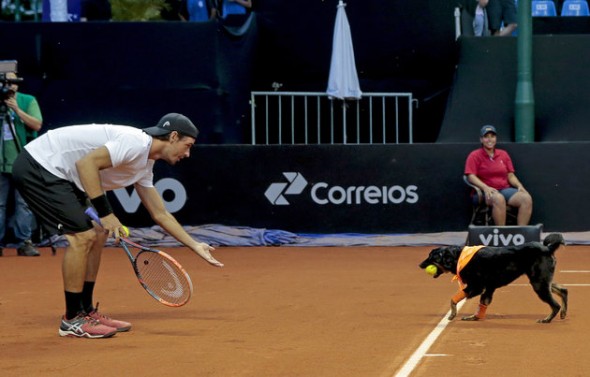
<path fill-rule="evenodd" d="M 590 154 L 582 144 L 505 146 L 533 196 L 532 224 L 542 223 L 547 231 L 590 229 L 583 216 L 589 204 L 576 199 L 577 188 L 590 186 L 590 172 L 579 170 L 588 170 L 579 161 Z M 471 204 L 463 167 L 477 147 L 197 145 L 176 166 L 158 162 L 155 186 L 184 225 L 322 234 L 466 231 Z M 575 179 L 580 182 L 571 182 L 563 168 L 570 163 L 578 167 Z M 109 198 L 124 223 L 154 225 L 132 187 L 111 192 Z M 484 239 L 478 243 L 503 245 L 528 236 L 492 231 L 479 237 Z"/>

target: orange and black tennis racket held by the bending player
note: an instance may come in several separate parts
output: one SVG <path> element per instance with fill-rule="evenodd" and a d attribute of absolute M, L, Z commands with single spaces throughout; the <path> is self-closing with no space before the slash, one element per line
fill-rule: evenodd
<path fill-rule="evenodd" d="M 89 207 L 86 214 L 100 224 L 100 218 L 94 208 Z M 182 306 L 190 300 L 193 283 L 174 258 L 163 251 L 139 245 L 125 237 L 120 238 L 119 245 L 129 257 L 137 280 L 150 296 L 172 307 Z M 133 256 L 131 249 L 139 252 Z"/>

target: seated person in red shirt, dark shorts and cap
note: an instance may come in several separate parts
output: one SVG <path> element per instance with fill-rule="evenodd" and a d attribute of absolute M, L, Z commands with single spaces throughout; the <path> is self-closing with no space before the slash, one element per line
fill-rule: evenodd
<path fill-rule="evenodd" d="M 482 147 L 467 156 L 465 175 L 484 193 L 496 225 L 506 225 L 506 206 L 518 209 L 517 225 L 528 225 L 533 213 L 533 199 L 514 174 L 512 160 L 505 150 L 496 149 L 496 128 L 481 128 Z"/>

